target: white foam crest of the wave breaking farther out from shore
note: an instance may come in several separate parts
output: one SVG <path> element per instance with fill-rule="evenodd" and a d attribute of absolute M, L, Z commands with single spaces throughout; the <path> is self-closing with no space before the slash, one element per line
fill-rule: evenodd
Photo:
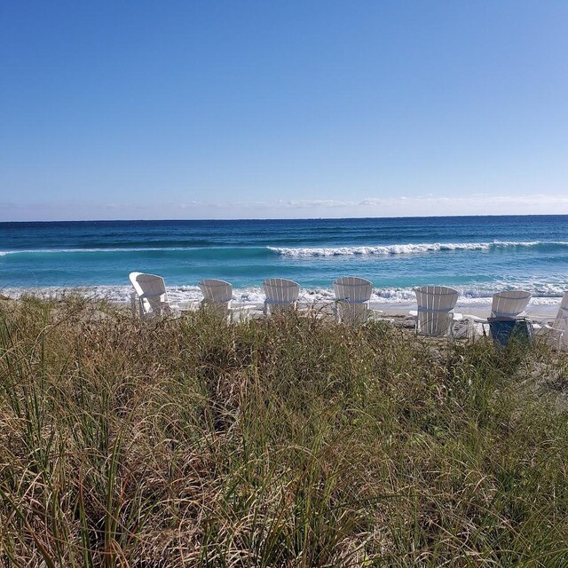
<path fill-rule="evenodd" d="M 556 241 L 493 241 L 493 242 L 422 242 L 359 247 L 267 247 L 280 256 L 313 258 L 317 256 L 389 256 L 411 255 L 446 250 L 490 250 L 506 247 L 536 247 L 539 245 L 568 246 L 568 242 Z"/>

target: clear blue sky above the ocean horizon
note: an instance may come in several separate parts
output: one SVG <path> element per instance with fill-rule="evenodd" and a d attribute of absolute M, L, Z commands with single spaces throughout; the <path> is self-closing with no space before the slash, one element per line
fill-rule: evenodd
<path fill-rule="evenodd" d="M 566 0 L 0 0 L 0 220 L 568 213 Z"/>

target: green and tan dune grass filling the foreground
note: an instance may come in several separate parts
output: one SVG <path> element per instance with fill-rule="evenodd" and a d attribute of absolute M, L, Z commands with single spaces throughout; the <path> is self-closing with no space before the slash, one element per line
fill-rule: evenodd
<path fill-rule="evenodd" d="M 568 565 L 565 355 L 2 306 L 0 565 Z"/>

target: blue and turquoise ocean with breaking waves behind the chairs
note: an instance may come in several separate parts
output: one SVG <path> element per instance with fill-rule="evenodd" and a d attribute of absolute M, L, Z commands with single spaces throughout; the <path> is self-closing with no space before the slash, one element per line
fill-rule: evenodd
<path fill-rule="evenodd" d="M 375 303 L 413 302 L 426 284 L 456 288 L 461 303 L 507 288 L 557 303 L 568 288 L 568 216 L 0 223 L 5 295 L 80 287 L 126 302 L 132 271 L 163 276 L 174 300 L 199 297 L 202 278 L 258 302 L 269 277 L 315 299 L 358 275 L 373 282 Z"/>

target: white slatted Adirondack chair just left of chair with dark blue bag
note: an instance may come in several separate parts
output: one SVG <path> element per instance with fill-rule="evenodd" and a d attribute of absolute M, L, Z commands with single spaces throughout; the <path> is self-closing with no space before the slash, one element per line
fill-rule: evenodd
<path fill-rule="evenodd" d="M 410 315 L 416 320 L 416 333 L 430 337 L 454 335 L 454 322 L 463 319 L 454 313 L 458 292 L 446 286 L 422 286 L 415 288 L 418 310 Z"/>

